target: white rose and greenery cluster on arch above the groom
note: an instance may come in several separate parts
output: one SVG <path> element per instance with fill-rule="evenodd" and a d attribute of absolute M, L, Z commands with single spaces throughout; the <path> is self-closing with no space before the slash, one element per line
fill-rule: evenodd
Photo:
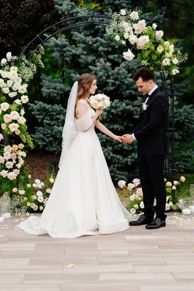
<path fill-rule="evenodd" d="M 177 40 L 164 41 L 163 31 L 156 30 L 157 24 L 146 26 L 145 19 L 141 19 L 141 10 L 131 11 L 120 10 L 120 13 L 113 13 L 113 21 L 106 32 L 115 43 L 120 42 L 129 49 L 123 52 L 123 57 L 131 61 L 137 50 L 138 62 L 144 66 L 149 65 L 150 70 L 162 70 L 170 75 L 179 73 L 178 65 L 185 62 L 188 54 L 182 54 L 174 45 Z M 131 48 L 131 49 L 130 49 Z"/>

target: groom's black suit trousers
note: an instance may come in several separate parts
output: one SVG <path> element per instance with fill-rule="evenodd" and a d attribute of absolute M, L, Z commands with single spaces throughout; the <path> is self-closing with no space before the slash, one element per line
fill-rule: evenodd
<path fill-rule="evenodd" d="M 156 216 L 165 221 L 166 188 L 163 178 L 165 155 L 147 157 L 138 151 L 139 178 L 142 185 L 146 217 L 154 217 L 154 198 L 156 198 Z"/>

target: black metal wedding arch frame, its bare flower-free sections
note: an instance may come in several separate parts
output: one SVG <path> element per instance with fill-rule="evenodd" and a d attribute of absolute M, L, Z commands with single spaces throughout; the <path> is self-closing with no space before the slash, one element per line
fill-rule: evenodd
<path fill-rule="evenodd" d="M 83 21 L 83 22 L 70 24 L 70 25 L 58 30 L 57 32 L 52 33 L 47 38 L 42 40 L 42 36 L 44 36 L 44 33 L 48 32 L 53 27 L 55 27 L 57 25 L 60 25 L 62 23 L 66 23 L 66 22 L 71 21 L 71 20 L 82 19 L 82 18 L 91 18 L 91 20 L 90 21 Z M 70 18 L 61 20 L 61 21 L 51 25 L 49 28 L 47 28 L 43 32 L 37 34 L 32 39 L 32 41 L 25 47 L 25 49 L 22 50 L 22 52 L 20 53 L 17 61 L 26 52 L 26 50 L 37 40 L 39 41 L 39 44 L 37 45 L 36 49 L 33 50 L 33 52 L 31 53 L 30 57 L 28 58 L 28 60 L 31 59 L 33 53 L 38 49 L 38 47 L 40 45 L 44 44 L 51 37 L 55 36 L 56 34 L 58 34 L 60 32 L 65 32 L 65 31 L 67 31 L 69 29 L 73 29 L 73 28 L 80 27 L 80 26 L 88 26 L 88 25 L 108 26 L 109 25 L 109 23 L 107 23 L 107 22 L 96 21 L 96 20 L 94 20 L 94 18 L 112 19 L 112 16 L 94 15 L 94 14 L 92 14 L 92 15 L 84 15 L 84 16 L 75 16 L 75 17 L 70 17 Z M 167 123 L 168 150 L 167 150 L 167 157 L 166 157 L 166 160 L 165 160 L 165 175 L 168 178 L 168 180 L 174 181 L 174 179 L 175 179 L 175 115 L 174 115 L 174 110 L 175 110 L 175 88 L 174 88 L 172 76 L 170 76 L 170 88 L 169 88 L 167 86 L 167 82 L 166 82 L 166 78 L 165 78 L 164 72 L 160 72 L 160 73 L 161 73 L 161 77 L 162 77 L 162 82 L 163 82 L 163 86 L 164 86 L 165 95 L 169 100 L 169 94 L 170 94 L 171 95 L 171 102 L 172 102 L 172 104 L 171 104 L 171 114 L 172 115 L 171 115 L 170 125 L 169 125 L 169 113 L 168 113 L 168 120 L 167 120 L 168 121 L 168 123 Z M 170 149 L 171 149 L 171 157 L 170 157 Z"/>

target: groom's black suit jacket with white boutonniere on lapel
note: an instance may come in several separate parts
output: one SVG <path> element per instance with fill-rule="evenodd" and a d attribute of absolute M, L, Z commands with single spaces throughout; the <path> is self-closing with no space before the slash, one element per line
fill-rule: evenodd
<path fill-rule="evenodd" d="M 142 103 L 146 101 L 143 97 Z M 147 157 L 167 153 L 167 115 L 169 103 L 166 96 L 157 88 L 147 100 L 146 110 L 140 109 L 139 124 L 130 133 L 137 140 L 138 152 Z"/>

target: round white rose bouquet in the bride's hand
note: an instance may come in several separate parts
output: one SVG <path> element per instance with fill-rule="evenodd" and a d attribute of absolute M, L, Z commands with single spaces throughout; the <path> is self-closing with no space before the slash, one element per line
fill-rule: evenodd
<path fill-rule="evenodd" d="M 111 105 L 110 97 L 102 94 L 92 95 L 88 102 L 90 103 L 90 106 L 94 109 L 105 109 L 108 108 Z M 104 115 L 100 114 L 97 118 L 99 120 L 104 119 Z"/>

